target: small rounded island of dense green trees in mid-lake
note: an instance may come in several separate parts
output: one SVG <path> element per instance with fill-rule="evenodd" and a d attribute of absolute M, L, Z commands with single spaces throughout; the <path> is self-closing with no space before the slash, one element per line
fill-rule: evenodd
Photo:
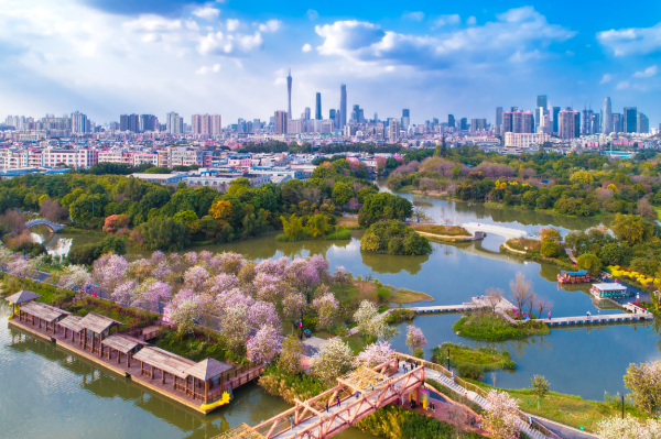
<path fill-rule="evenodd" d="M 430 241 L 399 220 L 379 221 L 369 227 L 360 240 L 360 250 L 372 253 L 420 256 L 430 254 Z"/>

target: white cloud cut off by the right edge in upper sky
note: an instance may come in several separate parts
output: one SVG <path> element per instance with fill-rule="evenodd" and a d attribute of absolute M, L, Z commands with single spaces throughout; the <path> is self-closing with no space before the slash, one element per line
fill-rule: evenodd
<path fill-rule="evenodd" d="M 661 51 L 661 23 L 652 28 L 611 29 L 597 33 L 597 41 L 615 56 L 648 55 Z"/>

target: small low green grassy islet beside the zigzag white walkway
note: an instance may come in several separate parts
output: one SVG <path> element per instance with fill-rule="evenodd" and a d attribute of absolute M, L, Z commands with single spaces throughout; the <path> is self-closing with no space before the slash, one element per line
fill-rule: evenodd
<path fill-rule="evenodd" d="M 457 320 L 452 330 L 459 337 L 474 340 L 498 341 L 545 336 L 551 332 L 544 323 L 510 325 L 501 316 L 470 312 Z"/>

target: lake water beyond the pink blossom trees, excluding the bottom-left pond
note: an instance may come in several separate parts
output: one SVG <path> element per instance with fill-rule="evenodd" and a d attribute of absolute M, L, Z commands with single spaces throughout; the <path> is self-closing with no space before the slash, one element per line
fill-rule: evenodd
<path fill-rule="evenodd" d="M 410 194 L 402 196 L 413 197 Z M 473 221 L 498 224 L 530 233 L 544 226 L 556 227 L 566 233 L 604 222 L 600 219 L 568 218 L 534 211 L 489 209 L 484 205 L 445 201 L 432 197 L 426 197 L 426 200 L 432 205 L 427 213 L 433 218 L 451 219 L 459 223 Z M 78 234 L 43 238 L 48 241 L 50 249 L 65 249 L 99 239 Z M 347 241 L 279 242 L 274 239 L 274 233 L 269 233 L 249 241 L 194 250 L 234 251 L 257 260 L 319 254 L 330 262 L 332 268 L 342 265 L 355 276 L 371 275 L 384 284 L 430 294 L 435 298 L 434 305 L 468 301 L 473 296 L 484 294 L 489 287 L 502 288 L 509 294 L 509 283 L 520 272 L 532 281 L 538 295 L 554 303 L 551 310 L 554 317 L 585 315 L 587 311 L 596 315 L 600 311 L 588 295 L 588 285 L 559 287 L 556 266 L 527 263 L 498 253 L 498 246 L 505 242 L 505 238 L 496 234 L 489 234 L 481 242 L 433 243 L 433 253 L 427 256 L 366 254 L 360 252 L 359 239 L 360 232 L 354 232 L 353 239 Z M 61 243 L 63 241 L 65 242 Z M 148 255 L 131 249 L 129 256 L 136 257 L 138 253 Z M 661 358 L 659 327 L 655 322 L 552 329 L 545 337 L 483 343 L 462 339 L 452 331 L 452 326 L 458 318 L 459 315 L 434 315 L 421 316 L 414 320 L 413 323 L 422 328 L 429 341 L 426 358 L 430 358 L 432 347 L 444 341 L 507 349 L 517 362 L 517 371 L 496 374 L 496 384 L 501 387 L 529 387 L 532 375 L 540 374 L 546 377 L 554 392 L 600 400 L 604 392 L 615 394 L 625 391 L 622 375 L 629 363 Z M 409 323 L 400 325 L 401 334 L 392 340 L 398 350 L 407 349 L 407 325 Z M 491 382 L 490 375 L 488 381 Z"/>

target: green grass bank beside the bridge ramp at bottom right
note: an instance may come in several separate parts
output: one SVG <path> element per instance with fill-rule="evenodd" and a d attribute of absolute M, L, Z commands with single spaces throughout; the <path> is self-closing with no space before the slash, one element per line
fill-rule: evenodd
<path fill-rule="evenodd" d="M 490 391 L 494 388 L 485 383 L 470 381 L 472 383 Z M 553 383 L 551 383 L 553 385 Z M 583 427 L 587 431 L 594 431 L 597 422 L 604 418 L 614 415 L 621 415 L 621 406 L 616 400 L 614 403 L 602 403 L 595 400 L 586 400 L 579 396 L 563 395 L 559 393 L 550 393 L 540 402 L 538 409 L 537 397 L 529 389 L 507 389 L 499 388 L 509 393 L 512 397 L 519 399 L 519 407 L 523 411 L 532 415 L 538 415 L 543 418 L 553 419 L 560 424 L 571 427 Z M 617 398 L 616 398 L 617 399 Z M 625 411 L 636 417 L 643 417 L 636 407 L 629 403 L 625 404 Z"/>

